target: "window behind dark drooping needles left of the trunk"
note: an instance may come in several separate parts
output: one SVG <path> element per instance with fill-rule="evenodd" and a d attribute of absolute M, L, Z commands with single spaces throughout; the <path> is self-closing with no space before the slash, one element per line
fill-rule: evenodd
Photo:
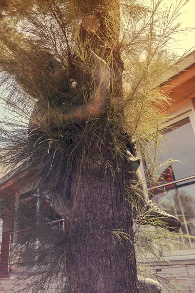
<path fill-rule="evenodd" d="M 44 265 L 48 263 L 48 235 L 50 240 L 55 229 L 63 230 L 64 220 L 51 203 L 46 198 L 39 197 L 35 191 L 18 194 L 16 202 L 16 224 L 13 233 L 15 241 L 11 246 L 10 265 L 20 263 L 22 266 L 33 267 L 36 257 L 39 257 L 39 262 Z"/>

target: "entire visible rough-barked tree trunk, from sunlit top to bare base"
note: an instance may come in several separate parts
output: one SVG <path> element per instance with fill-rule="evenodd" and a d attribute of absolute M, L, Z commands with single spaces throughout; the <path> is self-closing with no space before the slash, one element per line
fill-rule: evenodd
<path fill-rule="evenodd" d="M 121 99 L 123 68 L 118 48 L 119 1 L 111 1 L 110 6 L 108 3 L 109 1 L 104 0 L 84 0 L 80 3 L 80 7 L 83 17 L 96 14 L 101 20 L 99 33 L 101 38 L 92 36 L 92 48 L 96 53 L 97 47 L 102 48 L 102 40 L 109 40 L 109 48 L 105 49 L 104 43 L 103 50 L 106 58 L 110 48 L 113 48 L 116 81 L 114 86 L 118 98 Z M 100 11 L 99 7 L 103 7 L 103 10 Z M 115 31 L 113 26 L 109 28 L 108 22 L 105 25 L 106 17 L 110 17 L 110 23 L 115 21 Z M 84 32 L 82 35 L 83 40 L 85 34 Z M 122 130 L 122 121 L 120 122 Z M 107 139 L 108 148 L 110 144 L 112 142 Z M 106 151 L 106 147 L 104 150 Z M 114 178 L 110 171 L 105 175 L 105 166 L 100 167 L 94 163 L 93 159 L 97 157 L 96 145 L 91 146 L 90 160 L 81 160 L 81 167 L 78 166 L 72 174 L 71 194 L 75 197 L 67 251 L 70 291 L 71 293 L 138 293 L 136 257 L 131 242 L 133 241 L 132 209 L 125 200 L 128 174 L 123 168 L 116 172 Z M 106 160 L 107 154 L 104 154 L 104 157 Z M 113 233 L 115 230 L 127 233 L 131 241 L 123 237 L 119 241 Z"/>

